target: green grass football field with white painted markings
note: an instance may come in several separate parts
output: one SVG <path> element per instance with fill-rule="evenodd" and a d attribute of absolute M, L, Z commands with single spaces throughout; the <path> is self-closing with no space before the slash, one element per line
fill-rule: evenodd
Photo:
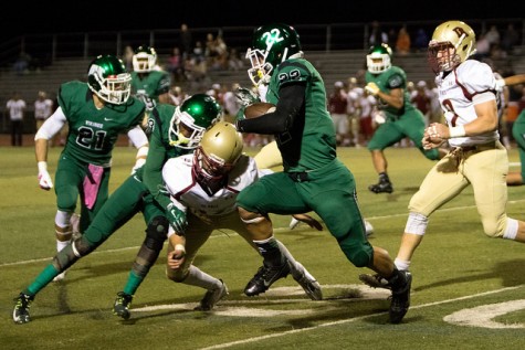
<path fill-rule="evenodd" d="M 61 148 L 51 148 L 54 173 Z M 246 150 L 253 153 L 253 149 Z M 396 256 L 411 195 L 433 162 L 413 148 L 386 150 L 395 191 L 375 194 L 377 181 L 366 149 L 339 148 L 354 172 L 372 245 Z M 111 191 L 133 167 L 135 149 L 114 152 Z M 518 155 L 510 151 L 511 170 Z M 14 325 L 13 298 L 55 254 L 54 192 L 39 189 L 31 147 L 0 147 L 0 349 L 525 349 L 525 245 L 490 238 L 468 188 L 430 218 L 416 252 L 411 307 L 400 325 L 388 322 L 389 293 L 359 283 L 370 273 L 354 267 L 326 231 L 272 216 L 275 235 L 319 282 L 324 299 L 309 300 L 288 276 L 259 297 L 243 288 L 261 258 L 233 232 L 216 231 L 195 264 L 224 280 L 227 296 L 209 312 L 195 311 L 204 290 L 165 276 L 166 247 L 124 321 L 112 314 L 145 236 L 140 214 L 62 283 L 35 298 L 32 321 Z M 53 176 L 54 177 L 54 176 Z M 525 187 L 508 188 L 508 215 L 525 220 Z M 342 210 L 343 214 L 343 210 Z"/>

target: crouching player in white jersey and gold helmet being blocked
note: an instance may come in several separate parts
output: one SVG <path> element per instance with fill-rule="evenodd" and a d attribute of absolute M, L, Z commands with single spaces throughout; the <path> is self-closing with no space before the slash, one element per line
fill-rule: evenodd
<path fill-rule="evenodd" d="M 170 226 L 168 237 L 167 276 L 169 279 L 207 289 L 196 308 L 210 310 L 228 295 L 225 284 L 192 265 L 199 248 L 213 230 L 228 229 L 241 235 L 255 251 L 251 235 L 240 219 L 235 200 L 238 193 L 259 180 L 262 173 L 253 158 L 242 153 L 242 134 L 227 121 L 220 121 L 202 136 L 195 153 L 169 159 L 162 169 L 166 188 L 176 210 L 186 213 L 187 230 L 183 234 Z M 322 230 L 318 222 L 300 214 L 313 227 Z M 309 219 L 309 220 L 308 220 Z M 282 243 L 293 278 L 313 300 L 322 299 L 317 280 L 296 262 Z"/>

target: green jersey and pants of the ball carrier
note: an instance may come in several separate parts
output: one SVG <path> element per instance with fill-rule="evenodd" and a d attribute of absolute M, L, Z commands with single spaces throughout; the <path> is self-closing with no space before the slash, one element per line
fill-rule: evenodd
<path fill-rule="evenodd" d="M 267 174 L 244 189 L 238 205 L 261 214 L 314 211 L 347 258 L 356 266 L 367 266 L 372 247 L 365 235 L 354 176 L 337 159 L 323 78 L 308 61 L 287 60 L 273 72 L 266 100 L 276 105 L 280 89 L 288 84 L 304 84 L 306 95 L 294 124 L 275 135 L 284 172 Z"/>

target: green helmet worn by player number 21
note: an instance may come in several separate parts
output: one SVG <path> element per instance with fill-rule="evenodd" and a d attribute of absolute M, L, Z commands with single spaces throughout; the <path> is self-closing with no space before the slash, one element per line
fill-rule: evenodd
<path fill-rule="evenodd" d="M 122 60 L 114 55 L 99 55 L 90 64 L 87 86 L 103 100 L 123 105 L 132 93 L 132 75 Z"/>

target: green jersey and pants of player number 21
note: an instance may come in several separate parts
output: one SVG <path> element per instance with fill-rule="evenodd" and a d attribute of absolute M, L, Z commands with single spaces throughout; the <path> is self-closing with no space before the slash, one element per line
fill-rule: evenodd
<path fill-rule="evenodd" d="M 124 105 L 105 104 L 98 109 L 87 84 L 77 81 L 62 84 L 57 99 L 69 123 L 69 135 L 55 174 L 56 204 L 60 211 L 74 212 L 80 194 L 83 232 L 107 199 L 112 152 L 118 135 L 140 124 L 145 106 L 129 98 Z M 103 168 L 92 209 L 84 203 L 90 165 Z"/>

